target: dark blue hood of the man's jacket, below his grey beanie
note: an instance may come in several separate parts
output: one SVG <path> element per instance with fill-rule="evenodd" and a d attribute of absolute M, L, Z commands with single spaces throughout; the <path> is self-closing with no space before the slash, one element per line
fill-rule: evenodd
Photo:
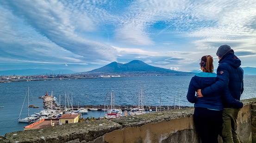
<path fill-rule="evenodd" d="M 238 68 L 241 65 L 241 60 L 234 54 L 234 50 L 227 51 L 219 60 L 219 63 L 229 63 L 231 66 Z"/>

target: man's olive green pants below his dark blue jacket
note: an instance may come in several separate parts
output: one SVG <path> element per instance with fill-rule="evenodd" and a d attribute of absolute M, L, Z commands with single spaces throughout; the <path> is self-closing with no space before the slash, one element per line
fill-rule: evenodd
<path fill-rule="evenodd" d="M 237 137 L 237 115 L 239 109 L 224 108 L 223 109 L 223 143 L 240 143 Z"/>

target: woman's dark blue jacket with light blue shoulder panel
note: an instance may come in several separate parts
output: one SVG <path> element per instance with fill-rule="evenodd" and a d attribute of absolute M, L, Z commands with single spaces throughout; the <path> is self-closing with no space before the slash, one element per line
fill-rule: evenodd
<path fill-rule="evenodd" d="M 243 103 L 234 99 L 229 90 L 215 92 L 212 96 L 197 97 L 195 93 L 198 89 L 203 89 L 205 87 L 211 86 L 217 81 L 217 74 L 201 72 L 195 74 L 195 76 L 190 80 L 187 100 L 194 103 L 194 107 L 202 107 L 207 109 L 223 110 L 222 100 L 224 99 L 227 103 L 230 103 L 234 108 L 242 108 Z"/>

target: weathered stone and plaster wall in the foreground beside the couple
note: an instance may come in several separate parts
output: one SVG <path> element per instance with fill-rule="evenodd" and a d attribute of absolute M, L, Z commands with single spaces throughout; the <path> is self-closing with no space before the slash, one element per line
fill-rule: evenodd
<path fill-rule="evenodd" d="M 237 119 L 238 137 L 241 143 L 256 143 L 256 98 L 242 102 L 244 107 Z M 194 108 L 175 109 L 12 132 L 0 143 L 200 143 L 193 113 Z"/>

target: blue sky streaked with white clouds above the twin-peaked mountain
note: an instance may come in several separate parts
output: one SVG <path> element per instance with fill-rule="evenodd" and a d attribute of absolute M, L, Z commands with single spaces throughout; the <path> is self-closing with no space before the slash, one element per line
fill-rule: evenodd
<path fill-rule="evenodd" d="M 256 67 L 256 0 L 0 0 L 0 70 L 89 71 L 141 60 L 178 71 L 229 45 Z"/>

